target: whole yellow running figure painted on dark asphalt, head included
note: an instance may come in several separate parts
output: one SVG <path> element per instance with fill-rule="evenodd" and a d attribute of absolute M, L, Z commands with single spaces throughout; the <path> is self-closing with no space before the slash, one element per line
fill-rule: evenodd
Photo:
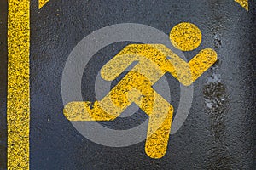
<path fill-rule="evenodd" d="M 170 40 L 174 47 L 191 51 L 201 44 L 201 31 L 183 22 L 172 28 Z M 187 63 L 162 44 L 128 45 L 102 67 L 102 78 L 113 81 L 133 62 L 137 65 L 102 100 L 70 102 L 64 115 L 73 122 L 112 121 L 135 103 L 149 116 L 145 151 L 152 158 L 160 158 L 166 154 L 173 107 L 152 86 L 167 72 L 189 86 L 217 59 L 212 48 L 202 49 Z"/>

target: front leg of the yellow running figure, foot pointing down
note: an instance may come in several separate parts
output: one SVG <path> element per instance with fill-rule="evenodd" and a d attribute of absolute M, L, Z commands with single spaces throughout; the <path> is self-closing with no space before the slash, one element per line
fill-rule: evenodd
<path fill-rule="evenodd" d="M 148 96 L 136 103 L 149 116 L 148 133 L 145 144 L 145 152 L 152 158 L 161 158 L 166 154 L 169 135 L 172 126 L 173 107 L 166 99 L 154 91 L 154 102 L 148 103 Z M 152 98 L 152 95 L 149 96 Z"/>

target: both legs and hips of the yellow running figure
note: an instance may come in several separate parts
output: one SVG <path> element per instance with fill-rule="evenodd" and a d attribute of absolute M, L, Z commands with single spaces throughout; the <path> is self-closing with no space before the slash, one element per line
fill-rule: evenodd
<path fill-rule="evenodd" d="M 151 81 L 143 74 L 130 71 L 101 101 L 96 101 L 94 105 L 89 102 L 69 103 L 64 108 L 64 115 L 70 121 L 111 121 L 132 102 L 149 116 L 146 153 L 153 158 L 164 156 L 173 108 L 154 91 Z"/>

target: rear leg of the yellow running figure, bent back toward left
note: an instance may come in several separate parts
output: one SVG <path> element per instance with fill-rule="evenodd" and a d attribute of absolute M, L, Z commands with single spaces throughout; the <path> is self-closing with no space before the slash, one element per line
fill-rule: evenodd
<path fill-rule="evenodd" d="M 112 121 L 134 102 L 128 99 L 132 89 L 149 96 L 154 95 L 151 86 L 148 78 L 130 71 L 101 101 L 73 101 L 65 105 L 63 112 L 69 121 Z M 149 98 L 147 102 L 152 99 Z"/>

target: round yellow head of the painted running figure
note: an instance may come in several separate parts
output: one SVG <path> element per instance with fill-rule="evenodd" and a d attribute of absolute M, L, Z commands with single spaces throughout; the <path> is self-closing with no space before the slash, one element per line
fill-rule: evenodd
<path fill-rule="evenodd" d="M 194 24 L 182 22 L 172 28 L 170 40 L 175 48 L 192 51 L 201 44 L 201 31 Z"/>

